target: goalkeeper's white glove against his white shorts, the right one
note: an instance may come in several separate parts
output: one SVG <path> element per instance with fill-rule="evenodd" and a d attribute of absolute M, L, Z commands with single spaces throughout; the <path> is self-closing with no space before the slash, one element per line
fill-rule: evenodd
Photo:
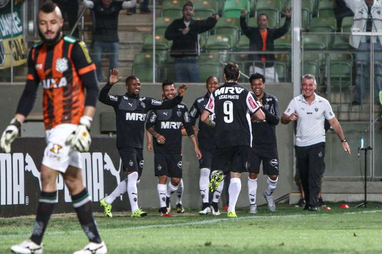
<path fill-rule="evenodd" d="M 88 116 L 82 116 L 79 119 L 79 125 L 76 130 L 66 139 L 67 145 L 78 152 L 88 152 L 91 143 L 90 126 L 93 119 Z"/>

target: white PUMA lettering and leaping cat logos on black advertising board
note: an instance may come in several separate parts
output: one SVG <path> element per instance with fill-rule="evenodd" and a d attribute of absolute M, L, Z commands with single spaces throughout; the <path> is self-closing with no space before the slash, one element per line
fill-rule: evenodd
<path fill-rule="evenodd" d="M 93 201 L 99 201 L 104 197 L 104 170 L 115 177 L 115 182 L 120 183 L 121 162 L 118 170 L 115 169 L 112 159 L 105 153 L 81 153 L 82 179 Z M 31 174 L 25 172 L 30 172 Z M 0 153 L 0 204 L 18 205 L 29 203 L 28 193 L 25 193 L 25 177 L 37 178 L 39 190 L 41 190 L 40 172 L 29 154 Z M 68 187 L 64 183 L 61 174 L 57 178 L 57 190 L 64 191 L 65 202 L 72 202 Z M 36 191 L 30 189 L 30 191 Z M 122 200 L 122 196 L 120 197 Z"/>

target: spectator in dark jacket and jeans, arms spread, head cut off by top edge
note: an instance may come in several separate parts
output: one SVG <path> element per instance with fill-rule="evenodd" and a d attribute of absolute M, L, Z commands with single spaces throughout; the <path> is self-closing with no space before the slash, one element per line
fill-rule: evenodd
<path fill-rule="evenodd" d="M 83 4 L 93 11 L 93 59 L 97 65 L 98 82 L 103 80 L 101 57 L 109 51 L 109 69 L 118 67 L 118 14 L 121 9 L 132 8 L 137 0 L 83 0 Z"/>

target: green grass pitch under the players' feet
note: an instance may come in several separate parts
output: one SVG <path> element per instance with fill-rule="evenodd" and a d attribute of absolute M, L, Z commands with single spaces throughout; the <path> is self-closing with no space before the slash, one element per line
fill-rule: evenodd
<path fill-rule="evenodd" d="M 237 219 L 199 216 L 193 210 L 161 218 L 95 214 L 109 253 L 382 253 L 382 208 L 302 211 L 278 205 L 257 215 L 237 211 Z M 354 206 L 354 205 L 352 205 Z M 187 210 L 186 210 L 187 211 Z M 34 217 L 0 218 L 0 253 L 29 237 Z M 73 253 L 87 239 L 75 214 L 53 215 L 43 239 L 45 253 Z"/>

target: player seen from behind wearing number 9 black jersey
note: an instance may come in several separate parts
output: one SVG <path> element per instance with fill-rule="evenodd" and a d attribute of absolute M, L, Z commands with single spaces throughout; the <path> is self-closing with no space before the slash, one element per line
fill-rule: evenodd
<path fill-rule="evenodd" d="M 251 118 L 260 121 L 265 119 L 256 95 L 237 84 L 239 77 L 240 70 L 237 64 L 228 63 L 224 68 L 226 83 L 210 95 L 200 116 L 200 120 L 207 125 L 215 125 L 216 150 L 212 159 L 214 172 L 210 191 L 217 189 L 223 175 L 228 173 L 225 168 L 230 162 L 228 217 L 236 217 L 235 206 L 241 190 L 240 175 L 247 171 L 245 163 L 252 139 Z M 209 118 L 213 113 L 215 122 Z"/>

